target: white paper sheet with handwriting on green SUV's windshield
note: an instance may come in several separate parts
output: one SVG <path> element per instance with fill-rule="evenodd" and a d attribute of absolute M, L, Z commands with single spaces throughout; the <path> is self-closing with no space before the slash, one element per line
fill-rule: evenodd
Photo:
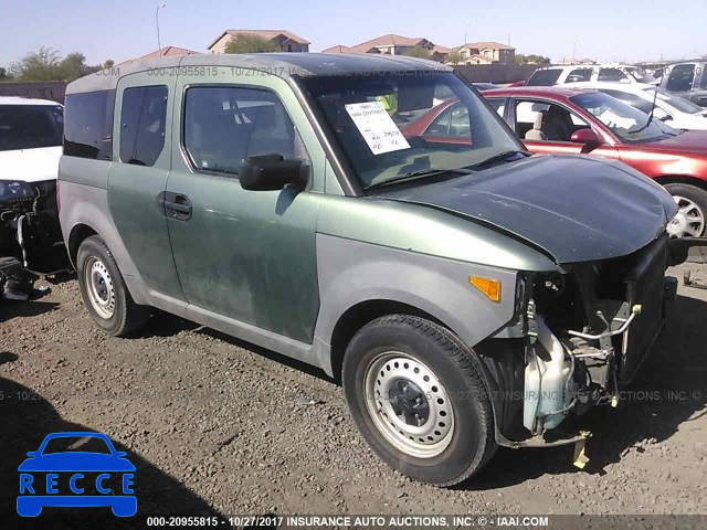
<path fill-rule="evenodd" d="M 373 155 L 410 149 L 410 144 L 380 102 L 350 103 L 346 112 Z"/>

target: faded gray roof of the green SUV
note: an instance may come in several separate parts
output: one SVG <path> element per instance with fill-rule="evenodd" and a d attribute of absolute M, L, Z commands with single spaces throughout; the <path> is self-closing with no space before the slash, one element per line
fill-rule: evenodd
<path fill-rule="evenodd" d="M 151 68 L 176 66 L 231 66 L 235 68 L 260 68 L 282 78 L 294 75 L 326 76 L 355 75 L 363 73 L 386 73 L 401 71 L 452 72 L 434 61 L 403 55 L 380 55 L 368 53 L 238 53 L 238 54 L 193 54 L 159 57 L 130 64 L 120 64 L 74 81 L 66 87 L 66 94 L 95 92 L 115 88 L 125 75 Z"/>

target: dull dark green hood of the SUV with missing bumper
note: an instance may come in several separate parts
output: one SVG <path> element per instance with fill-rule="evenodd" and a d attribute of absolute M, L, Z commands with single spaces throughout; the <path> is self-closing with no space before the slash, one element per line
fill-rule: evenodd
<path fill-rule="evenodd" d="M 534 156 L 379 198 L 468 218 L 542 248 L 557 263 L 631 254 L 677 213 L 661 186 L 627 166 L 570 155 Z"/>

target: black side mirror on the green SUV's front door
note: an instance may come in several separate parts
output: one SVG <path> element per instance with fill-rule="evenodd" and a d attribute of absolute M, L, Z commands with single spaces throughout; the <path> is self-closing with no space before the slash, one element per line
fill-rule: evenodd
<path fill-rule="evenodd" d="M 288 184 L 304 190 L 307 173 L 302 160 L 285 160 L 282 155 L 258 155 L 243 159 L 239 180 L 241 188 L 250 191 L 276 191 Z"/>

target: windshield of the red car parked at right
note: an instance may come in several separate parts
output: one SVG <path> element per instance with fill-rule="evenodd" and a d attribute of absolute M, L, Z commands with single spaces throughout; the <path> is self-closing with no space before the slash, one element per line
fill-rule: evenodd
<path fill-rule="evenodd" d="M 572 96 L 570 102 L 599 119 L 624 142 L 655 141 L 678 134 L 657 119 L 645 127 L 647 114 L 601 92 Z"/>

